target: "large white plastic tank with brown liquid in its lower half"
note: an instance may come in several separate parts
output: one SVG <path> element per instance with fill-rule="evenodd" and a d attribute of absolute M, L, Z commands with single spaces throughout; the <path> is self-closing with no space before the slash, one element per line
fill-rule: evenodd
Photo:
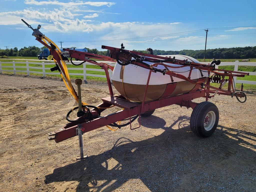
<path fill-rule="evenodd" d="M 161 55 L 163 56 L 163 55 Z M 189 62 L 200 63 L 198 60 L 184 55 L 164 55 L 164 57 L 171 56 L 172 58 L 175 56 L 175 59 L 184 60 L 188 59 Z M 150 62 L 145 62 L 151 65 Z M 168 66 L 181 66 L 177 64 L 164 63 Z M 165 69 L 164 66 L 158 65 L 158 69 Z M 185 77 L 189 76 L 190 67 L 183 68 L 170 68 L 168 70 L 172 70 L 173 72 L 177 72 L 179 74 L 184 75 Z M 116 63 L 113 74 L 112 74 L 112 82 L 116 90 L 126 99 L 135 102 L 142 102 L 145 88 L 147 84 L 148 74 L 150 70 L 129 64 L 126 66 L 121 66 Z M 202 77 L 203 75 L 203 77 Z M 208 72 L 199 71 L 199 69 L 193 68 L 190 79 L 196 81 L 204 81 L 206 82 L 208 78 Z M 153 101 L 159 98 L 172 97 L 175 95 L 188 93 L 191 90 L 199 88 L 200 85 L 196 85 L 185 81 L 183 79 L 179 79 L 177 77 L 173 77 L 172 79 L 169 75 L 163 75 L 160 72 L 152 72 L 151 78 L 149 81 L 149 86 L 147 90 L 147 95 L 145 101 Z"/>

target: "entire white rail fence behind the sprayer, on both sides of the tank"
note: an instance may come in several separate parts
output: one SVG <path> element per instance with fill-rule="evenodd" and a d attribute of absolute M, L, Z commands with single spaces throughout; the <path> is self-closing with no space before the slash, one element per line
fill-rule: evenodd
<path fill-rule="evenodd" d="M 81 62 L 81 61 L 78 61 L 78 62 Z M 8 66 L 2 66 L 2 64 L 12 64 L 12 65 L 8 65 Z M 16 66 L 15 64 L 26 64 L 26 66 Z M 115 63 L 113 62 L 106 62 L 108 63 L 109 65 L 111 66 L 115 66 Z M 208 64 L 209 62 L 201 62 L 201 63 L 204 63 L 204 64 Z M 32 67 L 32 66 L 29 66 L 29 64 L 36 64 L 36 65 L 42 65 L 42 67 Z M 67 63 L 67 64 L 71 64 L 71 63 Z M 42 74 L 43 77 L 45 77 L 45 75 L 47 74 L 56 74 L 56 75 L 59 75 L 60 73 L 56 73 L 56 72 L 45 72 L 45 70 L 50 70 L 51 68 L 50 67 L 46 67 L 47 65 L 55 65 L 54 62 L 47 62 L 47 63 L 44 63 L 44 62 L 15 62 L 15 61 L 12 61 L 12 62 L 1 62 L 0 61 L 0 73 L 3 73 L 3 71 L 7 71 L 7 72 L 13 72 L 13 74 L 16 74 L 16 72 L 26 72 L 27 75 L 29 76 L 30 73 L 38 73 L 38 74 Z M 95 74 L 89 74 L 87 73 L 86 71 L 100 71 L 100 72 L 104 72 L 103 69 L 93 69 L 93 68 L 86 68 L 87 65 L 95 65 L 93 63 L 89 63 L 89 62 L 85 62 L 81 65 L 81 68 L 68 68 L 69 70 L 69 74 L 70 75 L 78 75 L 78 76 L 83 76 L 83 79 L 86 80 L 86 77 L 87 76 L 90 76 L 90 77 L 103 77 L 103 78 L 106 78 L 105 75 L 95 75 Z M 216 66 L 216 68 L 218 68 L 219 66 L 234 66 L 234 71 L 238 71 L 238 66 L 256 66 L 256 62 L 239 62 L 239 61 L 235 61 L 235 62 L 222 62 L 220 63 L 220 65 Z M 7 70 L 7 69 L 2 69 L 2 68 L 13 68 L 13 70 Z M 26 69 L 26 70 L 18 70 L 19 68 L 23 68 L 23 69 Z M 42 72 L 40 71 L 30 71 L 29 69 L 41 69 Z M 83 73 L 72 73 L 72 70 L 81 70 L 83 71 Z M 248 72 L 248 71 L 242 71 L 242 72 L 246 72 L 246 73 L 250 73 L 250 75 L 256 75 L 256 72 Z M 110 79 L 111 79 L 111 76 L 112 76 L 112 71 L 109 69 L 109 76 L 110 76 Z M 237 77 L 234 77 L 234 83 L 244 83 L 244 84 L 253 84 L 253 85 L 256 85 L 256 81 L 246 81 L 246 80 L 237 80 Z"/>

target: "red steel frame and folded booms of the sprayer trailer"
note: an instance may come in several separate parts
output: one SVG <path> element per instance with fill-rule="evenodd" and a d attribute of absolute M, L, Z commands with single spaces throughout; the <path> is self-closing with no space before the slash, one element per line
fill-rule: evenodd
<path fill-rule="evenodd" d="M 59 59 L 57 53 L 50 46 L 45 44 L 40 38 L 36 38 L 36 40 L 38 40 L 40 43 L 42 43 L 43 45 L 45 45 L 46 47 L 48 47 L 51 50 L 51 54 L 54 56 L 54 58 L 56 58 L 56 61 L 58 62 L 59 66 L 62 70 L 62 73 L 65 75 L 64 70 L 63 70 L 63 68 L 60 64 L 61 62 L 60 62 L 60 59 Z M 110 81 L 110 77 L 109 77 L 109 73 L 108 73 L 108 69 L 113 70 L 113 67 L 109 66 L 105 63 L 98 63 L 98 62 L 95 62 L 93 60 L 90 60 L 90 59 L 101 59 L 101 60 L 104 60 L 104 61 L 116 61 L 115 55 L 117 54 L 117 52 L 122 51 L 123 49 L 114 48 L 114 47 L 107 47 L 107 46 L 102 46 L 102 48 L 109 49 L 111 57 L 97 55 L 97 54 L 91 54 L 91 53 L 87 53 L 87 52 L 76 51 L 76 50 L 72 50 L 72 49 L 63 49 L 63 50 L 69 51 L 70 57 L 72 57 L 72 58 L 76 58 L 76 59 L 79 59 L 81 61 L 88 61 L 90 63 L 94 63 L 95 65 L 98 65 L 102 69 L 104 69 L 105 73 L 106 73 L 106 79 L 107 79 L 107 82 L 108 82 L 110 96 L 112 96 L 112 98 L 114 98 L 114 99 L 115 98 L 123 98 L 121 95 L 113 96 L 112 85 L 111 85 L 111 81 Z M 125 50 L 125 51 L 129 51 L 129 50 Z M 150 57 L 152 60 L 167 59 L 166 57 L 144 54 L 144 53 L 135 52 L 135 51 L 129 51 L 129 52 L 131 52 L 133 54 L 140 55 L 140 56 Z M 90 59 L 86 59 L 86 57 L 89 57 Z M 170 59 L 170 58 L 168 58 L 168 59 Z M 109 124 L 112 124 L 114 122 L 121 121 L 121 120 L 124 120 L 124 119 L 127 119 L 127 118 L 130 118 L 130 120 L 131 120 L 131 116 L 140 115 L 142 113 L 145 113 L 145 112 L 157 109 L 157 108 L 161 108 L 161 107 L 164 107 L 164 106 L 168 106 L 168 105 L 177 104 L 177 105 L 180 105 L 180 106 L 186 106 L 187 108 L 191 107 L 191 108 L 194 109 L 196 107 L 197 103 L 192 102 L 193 99 L 196 99 L 196 98 L 199 98 L 199 97 L 205 97 L 206 101 L 208 101 L 209 98 L 214 97 L 214 96 L 210 96 L 210 93 L 214 93 L 216 90 L 219 91 L 218 94 L 232 95 L 232 92 L 231 92 L 231 88 L 233 89 L 232 77 L 233 76 L 244 77 L 244 75 L 249 75 L 249 73 L 243 73 L 243 72 L 238 72 L 238 71 L 228 71 L 228 70 L 221 70 L 221 69 L 216 69 L 215 70 L 213 67 L 211 67 L 209 65 L 204 65 L 204 64 L 199 64 L 199 63 L 189 62 L 189 64 L 188 64 L 188 62 L 186 62 L 185 60 L 173 59 L 173 62 L 167 62 L 167 63 L 179 63 L 180 65 L 183 65 L 181 67 L 190 66 L 189 77 L 185 77 L 183 75 L 174 73 L 170 70 L 167 70 L 167 72 L 165 74 L 170 75 L 171 77 L 172 76 L 173 77 L 178 77 L 180 79 L 189 81 L 190 83 L 200 84 L 201 87 L 197 88 L 196 90 L 193 89 L 189 93 L 177 95 L 177 96 L 174 96 L 174 97 L 168 97 L 168 98 L 162 98 L 162 99 L 160 98 L 158 100 L 151 101 L 151 102 L 145 102 L 145 97 L 146 97 L 146 94 L 147 94 L 147 88 L 148 88 L 148 84 L 149 84 L 149 81 L 150 81 L 151 73 L 155 72 L 155 71 L 151 70 L 152 68 L 148 68 L 149 69 L 149 74 L 148 74 L 146 89 L 145 89 L 145 93 L 144 93 L 144 99 L 143 99 L 143 102 L 141 104 L 136 104 L 133 107 L 125 108 L 125 109 L 120 110 L 118 112 L 111 113 L 111 114 L 102 116 L 100 118 L 97 118 L 97 119 L 94 119 L 94 120 L 91 120 L 91 121 L 80 122 L 80 124 L 82 125 L 83 132 L 84 133 L 89 132 L 89 131 L 98 129 L 100 127 L 103 127 L 105 125 L 109 125 Z M 138 63 L 136 61 L 133 62 L 133 64 L 141 66 L 141 63 Z M 157 66 L 157 65 L 167 66 L 164 63 L 154 63 L 153 65 L 151 65 L 151 67 L 154 67 L 154 66 Z M 145 66 L 143 66 L 143 67 L 145 67 Z M 225 77 L 229 77 L 228 90 L 223 90 L 221 88 L 216 88 L 216 87 L 210 86 L 210 80 L 211 79 L 208 78 L 208 77 L 207 77 L 207 82 L 206 83 L 190 80 L 191 69 L 193 67 L 201 69 L 201 70 L 207 70 L 208 74 L 210 74 L 210 72 L 214 72 L 216 74 L 221 75 L 222 76 L 221 83 L 223 81 L 225 81 Z M 224 73 L 219 73 L 217 71 L 222 71 Z M 214 89 L 214 90 L 210 90 L 210 88 Z M 238 93 L 237 95 L 238 95 L 238 97 L 243 97 L 242 94 Z M 102 100 L 103 100 L 103 103 L 98 105 L 98 107 L 101 107 L 100 111 L 104 111 L 105 109 L 102 109 L 102 108 L 109 107 L 113 104 L 113 103 L 105 102 L 104 98 Z M 118 106 L 118 105 L 116 105 L 116 106 Z M 96 111 L 91 110 L 91 112 L 92 112 L 93 115 L 94 114 L 97 115 Z M 76 129 L 77 129 L 77 123 L 68 123 L 66 126 L 63 126 L 63 127 L 61 127 L 60 129 L 58 129 L 54 132 L 48 133 L 48 135 L 49 135 L 48 139 L 49 140 L 55 140 L 56 143 L 64 141 L 68 138 L 77 136 Z"/>

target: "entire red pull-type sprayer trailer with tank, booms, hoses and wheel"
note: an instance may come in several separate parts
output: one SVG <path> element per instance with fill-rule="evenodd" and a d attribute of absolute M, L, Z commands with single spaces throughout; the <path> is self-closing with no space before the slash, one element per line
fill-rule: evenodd
<path fill-rule="evenodd" d="M 78 94 L 73 88 L 65 57 L 61 54 L 57 45 L 39 31 L 40 26 L 37 29 L 33 29 L 30 25 L 28 27 L 33 30 L 32 35 L 36 37 L 36 40 L 49 49 L 56 63 L 56 67 L 52 70 L 60 72 L 67 89 L 79 104 L 78 107 L 70 110 L 67 114 L 67 120 L 70 123 L 48 133 L 48 139 L 55 140 L 56 143 L 79 135 L 81 151 L 82 134 L 103 126 L 115 131 L 130 125 L 130 129 L 134 130 L 140 127 L 140 116 L 150 116 L 155 109 L 173 104 L 187 108 L 191 107 L 193 109 L 190 118 L 191 130 L 200 137 L 208 137 L 214 133 L 219 121 L 218 108 L 215 104 L 208 102 L 210 98 L 215 97 L 216 94 L 222 94 L 235 96 L 241 103 L 246 101 L 246 94 L 242 92 L 242 89 L 240 91 L 235 90 L 233 77 L 244 77 L 249 73 L 216 69 L 215 65 L 220 64 L 219 60 L 213 60 L 209 65 L 205 65 L 191 58 L 178 59 L 175 56 L 163 57 L 125 50 L 123 44 L 121 48 L 102 46 L 103 49 L 110 50 L 111 57 L 63 49 L 69 52 L 71 62 L 72 58 L 81 60 L 80 64 L 90 62 L 100 66 L 106 73 L 110 96 L 102 98 L 102 103 L 97 106 L 89 105 L 81 101 L 80 84 L 76 83 Z M 93 59 L 117 62 L 116 67 L 114 68 L 104 62 L 96 62 Z M 113 71 L 113 77 L 115 76 L 112 80 L 116 78 L 116 74 L 119 75 L 119 78 L 116 78 L 117 82 L 114 80 L 113 84 L 120 95 L 113 94 L 109 69 Z M 126 71 L 124 72 L 124 70 Z M 136 70 L 142 71 L 137 73 L 143 73 L 142 77 L 136 77 L 133 74 L 133 71 Z M 130 77 L 127 72 L 130 73 Z M 134 81 L 136 78 L 144 79 L 136 82 Z M 211 86 L 210 82 L 216 82 L 216 79 L 218 79 L 217 82 L 220 83 L 220 86 Z M 79 80 L 76 80 L 76 82 L 79 82 Z M 132 84 L 131 82 L 133 82 L 133 85 L 127 86 L 127 83 Z M 225 83 L 228 83 L 227 90 L 223 89 Z M 155 91 L 157 86 L 161 89 L 158 87 L 159 90 Z M 185 89 L 186 86 L 189 86 L 189 88 Z M 205 101 L 201 103 L 193 102 L 194 99 L 200 97 L 204 97 Z M 119 107 L 120 111 L 101 116 L 102 111 L 111 107 Z M 77 119 L 70 120 L 69 115 L 75 109 L 79 109 Z M 137 118 L 139 126 L 133 127 L 132 122 Z M 83 158 L 82 151 L 80 158 Z"/>

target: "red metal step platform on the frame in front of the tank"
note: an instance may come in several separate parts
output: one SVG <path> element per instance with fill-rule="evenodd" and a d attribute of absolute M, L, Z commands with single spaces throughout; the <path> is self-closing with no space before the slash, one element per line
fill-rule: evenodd
<path fill-rule="evenodd" d="M 128 100 L 124 100 L 124 99 L 115 97 L 115 96 L 101 98 L 101 100 L 105 103 L 109 103 L 109 104 L 118 106 L 118 107 L 123 108 L 123 109 L 131 109 L 131 108 L 134 108 L 134 107 L 140 105 L 140 104 L 128 101 Z"/>

